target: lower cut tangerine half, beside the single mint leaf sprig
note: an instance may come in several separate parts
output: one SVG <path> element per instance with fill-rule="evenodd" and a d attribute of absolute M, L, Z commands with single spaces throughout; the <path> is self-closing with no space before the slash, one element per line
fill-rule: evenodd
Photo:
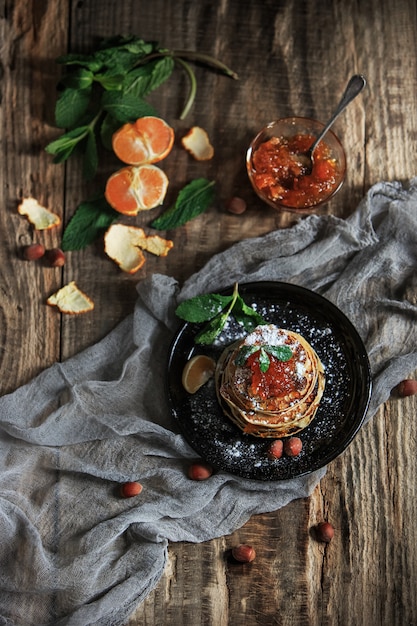
<path fill-rule="evenodd" d="M 110 206 L 123 215 L 137 215 L 162 204 L 168 177 L 156 165 L 129 165 L 110 176 L 105 197 Z"/>

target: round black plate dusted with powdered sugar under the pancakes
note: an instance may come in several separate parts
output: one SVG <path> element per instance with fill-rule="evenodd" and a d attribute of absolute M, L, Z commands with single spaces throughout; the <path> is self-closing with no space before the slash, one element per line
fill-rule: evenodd
<path fill-rule="evenodd" d="M 207 354 L 217 360 L 226 345 L 245 336 L 233 320 L 209 347 L 194 343 L 200 325 L 181 326 L 168 363 L 172 414 L 191 447 L 217 469 L 257 480 L 308 474 L 341 454 L 363 423 L 371 393 L 365 347 L 347 317 L 329 300 L 308 289 L 288 283 L 257 282 L 240 284 L 239 293 L 268 322 L 303 335 L 325 367 L 326 387 L 316 417 L 298 434 L 303 442 L 301 454 L 270 459 L 270 439 L 245 435 L 225 417 L 213 379 L 194 395 L 183 388 L 182 370 L 188 359 Z"/>

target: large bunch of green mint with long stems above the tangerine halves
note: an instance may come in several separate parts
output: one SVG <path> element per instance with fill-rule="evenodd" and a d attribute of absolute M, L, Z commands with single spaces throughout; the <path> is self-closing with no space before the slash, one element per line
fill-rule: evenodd
<path fill-rule="evenodd" d="M 58 84 L 55 123 L 66 132 L 46 146 L 54 163 L 83 152 L 83 173 L 94 177 L 98 142 L 111 148 L 113 133 L 123 124 L 146 115 L 158 115 L 146 97 L 173 73 L 175 64 L 187 73 L 190 91 L 180 116 L 188 114 L 196 95 L 196 78 L 189 60 L 204 63 L 237 78 L 213 57 L 187 50 L 160 48 L 135 36 L 105 39 L 91 54 L 68 54 L 57 62 L 66 68 Z"/>

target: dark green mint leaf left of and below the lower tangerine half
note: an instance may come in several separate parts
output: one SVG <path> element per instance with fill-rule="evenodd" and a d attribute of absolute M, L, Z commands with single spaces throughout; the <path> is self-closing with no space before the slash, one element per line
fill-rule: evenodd
<path fill-rule="evenodd" d="M 63 250 L 81 250 L 93 243 L 120 215 L 100 196 L 81 203 L 69 221 L 62 238 Z"/>

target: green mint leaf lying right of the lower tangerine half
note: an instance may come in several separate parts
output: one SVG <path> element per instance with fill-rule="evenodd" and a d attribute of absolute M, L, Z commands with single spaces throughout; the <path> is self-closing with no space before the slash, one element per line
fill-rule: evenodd
<path fill-rule="evenodd" d="M 158 230 L 172 230 L 204 213 L 215 199 L 214 181 L 196 178 L 178 194 L 175 204 L 151 223 Z"/>

